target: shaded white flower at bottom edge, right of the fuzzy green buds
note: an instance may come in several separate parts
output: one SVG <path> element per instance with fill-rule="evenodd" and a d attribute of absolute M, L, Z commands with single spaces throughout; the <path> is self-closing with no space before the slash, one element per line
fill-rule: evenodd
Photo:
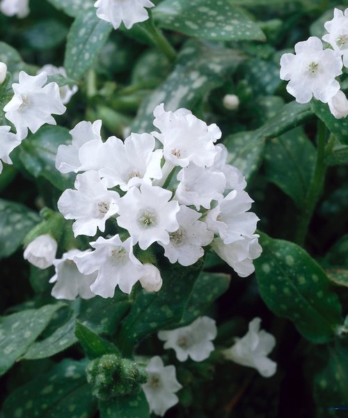
<path fill-rule="evenodd" d="M 161 357 L 157 355 L 150 359 L 146 371 L 149 376 L 148 382 L 141 387 L 150 405 L 150 412 L 163 417 L 166 411 L 179 401 L 175 392 L 180 390 L 182 385 L 177 381 L 175 366 L 164 366 Z"/>

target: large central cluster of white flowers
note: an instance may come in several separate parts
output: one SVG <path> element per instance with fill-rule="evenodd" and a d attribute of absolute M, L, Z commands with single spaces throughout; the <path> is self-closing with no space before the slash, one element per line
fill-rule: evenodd
<path fill-rule="evenodd" d="M 165 111 L 164 104 L 154 114 L 157 132 L 102 141 L 101 121 L 82 121 L 70 131 L 72 144 L 58 147 L 56 168 L 78 173 L 75 188 L 58 200 L 65 219 L 74 219 L 75 237 L 107 232 L 107 219 L 118 231 L 72 257 L 79 272 L 96 274 L 90 290 L 102 297 L 112 297 L 116 286 L 130 293 L 138 280 L 148 291 L 159 290 L 157 268 L 140 261 L 152 245 L 184 266 L 211 245 L 241 277 L 253 272 L 261 254 L 246 182 L 227 164 L 226 148 L 214 144 L 219 127 L 187 109 Z M 156 149 L 155 139 L 163 148 Z"/>

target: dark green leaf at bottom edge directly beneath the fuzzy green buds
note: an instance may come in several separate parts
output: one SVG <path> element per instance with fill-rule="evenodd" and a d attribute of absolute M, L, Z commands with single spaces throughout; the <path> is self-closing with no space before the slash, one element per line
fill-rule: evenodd
<path fill-rule="evenodd" d="M 148 418 L 148 401 L 143 392 L 134 396 L 120 396 L 115 401 L 100 401 L 100 418 Z"/>

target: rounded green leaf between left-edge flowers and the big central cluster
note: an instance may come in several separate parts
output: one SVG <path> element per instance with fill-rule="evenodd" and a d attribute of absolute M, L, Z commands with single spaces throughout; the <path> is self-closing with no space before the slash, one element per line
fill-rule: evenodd
<path fill-rule="evenodd" d="M 68 129 L 61 126 L 44 126 L 22 142 L 19 159 L 33 177 L 44 177 L 63 191 L 74 186 L 75 176 L 62 174 L 56 169 L 56 154 L 61 144 L 71 144 Z"/>

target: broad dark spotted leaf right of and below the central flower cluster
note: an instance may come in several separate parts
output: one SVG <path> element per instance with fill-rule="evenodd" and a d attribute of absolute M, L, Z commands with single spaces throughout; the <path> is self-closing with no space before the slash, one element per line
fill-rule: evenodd
<path fill-rule="evenodd" d="M 337 295 L 324 270 L 298 245 L 260 235 L 255 260 L 260 295 L 274 314 L 292 320 L 313 343 L 330 341 L 342 322 Z"/>

